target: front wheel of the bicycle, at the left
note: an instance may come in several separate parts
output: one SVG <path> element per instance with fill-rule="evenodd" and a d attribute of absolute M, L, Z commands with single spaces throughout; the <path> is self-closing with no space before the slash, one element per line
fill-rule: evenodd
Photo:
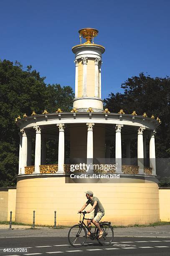
<path fill-rule="evenodd" d="M 80 247 L 84 244 L 87 238 L 86 229 L 80 224 L 74 225 L 70 228 L 68 233 L 68 240 L 71 246 Z"/>

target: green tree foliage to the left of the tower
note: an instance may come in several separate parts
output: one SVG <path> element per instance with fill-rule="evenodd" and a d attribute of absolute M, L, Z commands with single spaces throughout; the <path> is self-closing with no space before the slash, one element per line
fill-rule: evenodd
<path fill-rule="evenodd" d="M 15 185 L 18 173 L 19 128 L 14 119 L 24 113 L 37 114 L 44 109 L 69 111 L 74 98 L 71 87 L 44 82 L 31 66 L 23 70 L 15 61 L 0 61 L 0 186 Z"/>

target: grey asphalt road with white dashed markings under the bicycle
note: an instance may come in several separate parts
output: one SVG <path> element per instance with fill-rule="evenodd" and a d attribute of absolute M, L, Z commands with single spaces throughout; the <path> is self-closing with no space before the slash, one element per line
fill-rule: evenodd
<path fill-rule="evenodd" d="M 3 252 L 4 248 L 25 248 L 27 252 Z M 66 237 L 0 238 L 0 256 L 170 256 L 170 238 L 116 237 L 109 246 L 100 246 L 89 238 L 79 248 L 69 245 Z"/>

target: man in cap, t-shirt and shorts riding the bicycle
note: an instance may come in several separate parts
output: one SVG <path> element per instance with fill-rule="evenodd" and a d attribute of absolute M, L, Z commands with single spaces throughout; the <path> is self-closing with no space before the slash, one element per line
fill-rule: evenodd
<path fill-rule="evenodd" d="M 93 192 L 88 190 L 85 192 L 86 193 L 86 197 L 87 197 L 87 202 L 85 203 L 85 205 L 83 205 L 81 207 L 81 210 L 79 210 L 79 212 L 82 212 L 87 205 L 91 204 L 92 207 L 89 211 L 87 211 L 87 213 L 90 213 L 94 210 L 94 212 L 90 215 L 89 220 L 87 220 L 87 226 L 89 228 L 89 230 L 91 230 L 91 222 L 96 226 L 96 228 L 98 228 L 99 230 L 99 238 L 102 237 L 103 235 L 103 231 L 100 228 L 99 225 L 99 221 L 101 220 L 101 218 L 104 216 L 104 207 L 101 204 L 101 202 L 99 201 L 99 199 L 97 197 L 93 196 Z M 88 232 L 87 237 L 90 236 L 90 232 Z"/>

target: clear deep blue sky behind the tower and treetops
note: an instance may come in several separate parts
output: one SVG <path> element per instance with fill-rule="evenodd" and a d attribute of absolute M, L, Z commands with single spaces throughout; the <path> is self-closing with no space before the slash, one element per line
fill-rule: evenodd
<path fill-rule="evenodd" d="M 123 92 L 128 77 L 146 72 L 170 75 L 169 0 L 6 0 L 0 2 L 0 59 L 46 76 L 45 82 L 74 88 L 71 47 L 80 28 L 99 30 L 94 42 L 105 46 L 102 98 Z"/>

